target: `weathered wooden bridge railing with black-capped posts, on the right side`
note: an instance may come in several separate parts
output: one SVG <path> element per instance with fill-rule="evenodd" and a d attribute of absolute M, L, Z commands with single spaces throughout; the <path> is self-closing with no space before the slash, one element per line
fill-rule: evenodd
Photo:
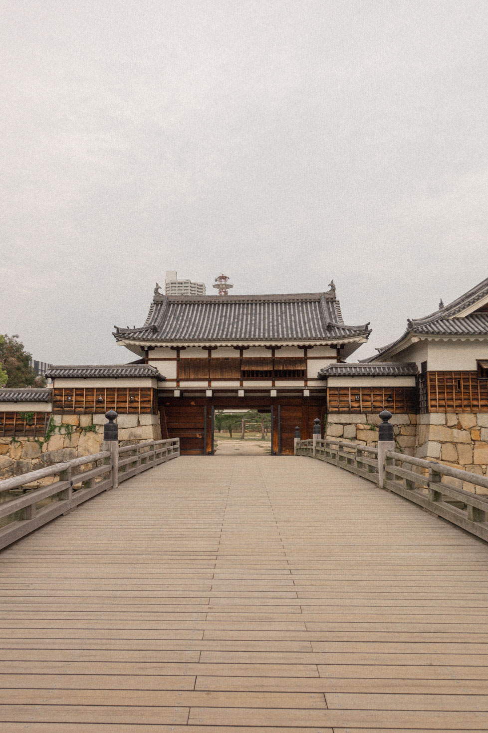
<path fill-rule="evenodd" d="M 315 420 L 312 440 L 301 441 L 296 429 L 295 453 L 345 468 L 488 541 L 488 496 L 476 493 L 477 488 L 488 492 L 488 476 L 398 453 L 388 424 L 391 413 L 384 410 L 380 417 L 378 448 L 320 438 Z M 475 491 L 459 489 L 449 478 L 469 482 Z"/>

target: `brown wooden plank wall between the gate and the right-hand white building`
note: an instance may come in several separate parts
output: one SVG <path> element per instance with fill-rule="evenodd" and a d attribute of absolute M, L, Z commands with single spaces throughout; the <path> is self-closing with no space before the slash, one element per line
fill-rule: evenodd
<path fill-rule="evenodd" d="M 331 413 L 416 413 L 416 387 L 329 387 L 327 405 Z"/>

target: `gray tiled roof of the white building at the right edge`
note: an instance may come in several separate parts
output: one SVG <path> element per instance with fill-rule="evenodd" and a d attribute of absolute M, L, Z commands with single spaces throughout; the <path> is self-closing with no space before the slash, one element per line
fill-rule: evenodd
<path fill-rule="evenodd" d="M 459 317 L 470 306 L 476 305 L 488 295 L 488 278 L 471 288 L 464 295 L 456 298 L 447 306 L 423 318 L 408 318 L 407 330 L 399 339 L 378 349 L 378 354 L 364 359 L 371 362 L 398 346 L 410 336 L 488 336 L 488 312 L 470 313 Z"/>

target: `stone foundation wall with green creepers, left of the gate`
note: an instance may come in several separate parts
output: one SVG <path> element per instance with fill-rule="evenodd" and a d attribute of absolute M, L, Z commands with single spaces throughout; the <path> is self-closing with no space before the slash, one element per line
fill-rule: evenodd
<path fill-rule="evenodd" d="M 105 415 L 53 415 L 48 438 L 0 438 L 0 480 L 99 453 Z M 159 415 L 119 415 L 119 444 L 159 441 Z M 51 479 L 49 479 L 50 481 Z"/>

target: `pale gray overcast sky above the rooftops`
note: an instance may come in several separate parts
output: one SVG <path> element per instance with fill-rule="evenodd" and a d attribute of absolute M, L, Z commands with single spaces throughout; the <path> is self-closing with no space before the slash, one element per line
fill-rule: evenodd
<path fill-rule="evenodd" d="M 369 345 L 488 276 L 482 0 L 16 0 L 0 10 L 0 333 L 130 361 L 167 269 L 337 285 Z"/>

